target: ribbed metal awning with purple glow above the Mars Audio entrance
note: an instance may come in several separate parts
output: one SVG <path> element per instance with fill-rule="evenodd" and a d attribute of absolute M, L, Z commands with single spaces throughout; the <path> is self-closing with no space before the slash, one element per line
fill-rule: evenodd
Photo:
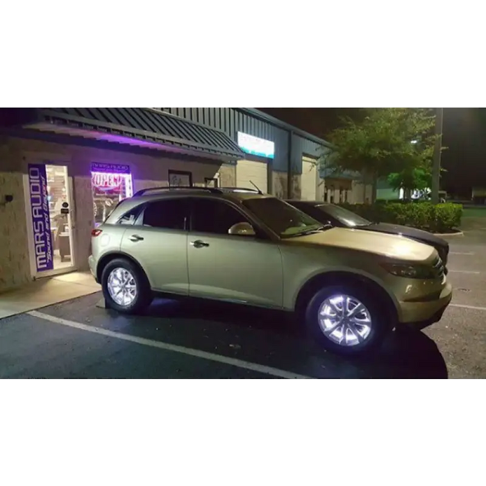
<path fill-rule="evenodd" d="M 36 131 L 235 160 L 245 154 L 226 133 L 166 112 L 132 105 L 30 106 L 10 116 Z"/>

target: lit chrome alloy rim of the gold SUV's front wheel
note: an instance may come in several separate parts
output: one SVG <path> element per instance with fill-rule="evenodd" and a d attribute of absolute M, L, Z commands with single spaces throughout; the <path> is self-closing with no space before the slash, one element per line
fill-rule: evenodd
<path fill-rule="evenodd" d="M 335 344 L 356 346 L 371 334 L 371 314 L 355 297 L 333 295 L 319 308 L 319 326 Z"/>

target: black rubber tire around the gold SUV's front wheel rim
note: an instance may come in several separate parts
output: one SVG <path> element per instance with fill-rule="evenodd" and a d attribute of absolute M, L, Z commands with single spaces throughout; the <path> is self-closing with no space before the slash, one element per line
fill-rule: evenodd
<path fill-rule="evenodd" d="M 346 295 L 358 299 L 358 301 L 367 308 L 371 317 L 371 331 L 363 342 L 353 346 L 344 346 L 331 340 L 331 338 L 327 337 L 324 334 L 324 331 L 321 330 L 321 325 L 319 324 L 319 310 L 326 299 L 330 299 L 330 297 L 335 295 Z M 377 298 L 375 294 L 371 294 L 369 290 L 366 290 L 364 286 L 357 284 L 324 287 L 310 299 L 307 309 L 305 310 L 305 325 L 308 333 L 312 335 L 321 346 L 340 355 L 362 355 L 371 353 L 371 351 L 376 351 L 376 349 L 383 344 L 383 340 L 393 328 L 393 326 L 389 325 L 388 313 L 384 311 L 384 309 L 386 309 L 385 303 L 380 300 L 381 299 L 379 297 Z M 362 327 L 359 329 L 363 330 Z"/>

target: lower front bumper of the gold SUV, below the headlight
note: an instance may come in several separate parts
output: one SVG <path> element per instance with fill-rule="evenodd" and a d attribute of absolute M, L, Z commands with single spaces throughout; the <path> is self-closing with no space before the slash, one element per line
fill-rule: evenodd
<path fill-rule="evenodd" d="M 452 285 L 447 283 L 435 301 L 401 302 L 401 319 L 397 327 L 420 330 L 439 322 L 451 303 L 452 294 Z"/>

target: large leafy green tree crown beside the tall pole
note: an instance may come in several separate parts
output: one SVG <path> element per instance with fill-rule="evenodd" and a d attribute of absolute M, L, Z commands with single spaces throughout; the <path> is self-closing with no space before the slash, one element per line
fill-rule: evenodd
<path fill-rule="evenodd" d="M 343 126 L 328 137 L 333 150 L 323 153 L 319 164 L 333 174 L 362 174 L 364 185 L 374 186 L 390 174 L 400 188 L 415 189 L 430 173 L 437 135 L 435 115 L 423 108 L 392 106 L 364 112 L 362 121 L 346 117 Z"/>

